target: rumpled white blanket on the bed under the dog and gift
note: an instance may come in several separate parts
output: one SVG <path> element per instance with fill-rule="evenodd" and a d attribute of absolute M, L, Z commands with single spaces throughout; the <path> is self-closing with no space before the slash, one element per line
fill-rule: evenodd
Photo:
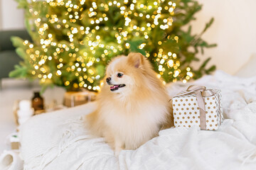
<path fill-rule="evenodd" d="M 223 72 L 193 84 L 222 90 L 225 120 L 217 131 L 193 127 L 161 130 L 159 137 L 119 157 L 104 138 L 84 128 L 95 103 L 33 117 L 21 127 L 24 169 L 256 169 L 256 77 Z M 169 84 L 174 96 L 190 84 Z"/>

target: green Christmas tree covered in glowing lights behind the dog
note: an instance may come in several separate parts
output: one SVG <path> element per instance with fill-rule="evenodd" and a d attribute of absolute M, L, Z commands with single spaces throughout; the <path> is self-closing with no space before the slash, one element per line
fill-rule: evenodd
<path fill-rule="evenodd" d="M 198 70 L 191 62 L 209 45 L 201 35 L 182 27 L 195 20 L 202 6 L 180 0 L 16 0 L 26 11 L 26 28 L 33 42 L 14 37 L 23 62 L 10 77 L 40 79 L 66 89 L 100 90 L 107 63 L 117 55 L 141 52 L 154 65 L 164 83 L 201 77 L 210 58 Z"/>

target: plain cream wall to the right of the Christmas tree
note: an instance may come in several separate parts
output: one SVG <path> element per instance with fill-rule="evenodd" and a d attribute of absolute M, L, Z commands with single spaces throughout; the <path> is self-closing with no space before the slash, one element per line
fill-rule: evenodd
<path fill-rule="evenodd" d="M 249 60 L 252 53 L 256 53 L 256 1 L 198 1 L 203 4 L 203 9 L 196 14 L 193 32 L 200 33 L 213 16 L 213 26 L 203 38 L 218 44 L 218 47 L 206 50 L 201 58 L 211 56 L 210 64 L 216 64 L 217 69 L 234 74 Z"/>

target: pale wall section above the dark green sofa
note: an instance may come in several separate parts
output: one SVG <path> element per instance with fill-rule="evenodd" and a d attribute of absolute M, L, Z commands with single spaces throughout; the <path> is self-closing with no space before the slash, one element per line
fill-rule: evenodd
<path fill-rule="evenodd" d="M 0 30 L 24 28 L 24 13 L 14 0 L 0 0 Z"/>

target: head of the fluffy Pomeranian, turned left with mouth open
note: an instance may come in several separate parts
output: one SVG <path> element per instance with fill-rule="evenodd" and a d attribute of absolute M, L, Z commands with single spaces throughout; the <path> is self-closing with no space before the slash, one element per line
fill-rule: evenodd
<path fill-rule="evenodd" d="M 130 53 L 128 57 L 116 57 L 107 67 L 106 84 L 112 93 L 129 93 L 138 86 L 142 74 L 144 56 Z"/>

